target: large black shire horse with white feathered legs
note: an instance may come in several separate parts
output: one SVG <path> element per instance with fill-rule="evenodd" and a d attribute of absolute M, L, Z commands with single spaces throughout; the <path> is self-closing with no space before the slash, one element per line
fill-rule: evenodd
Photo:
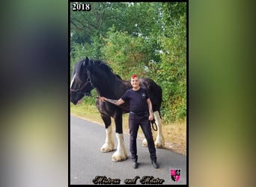
<path fill-rule="evenodd" d="M 159 114 L 160 105 L 162 102 L 162 88 L 156 85 L 152 79 L 140 78 L 141 88 L 146 88 L 153 106 L 153 117 L 156 121 L 158 129 L 156 141 L 154 142 L 156 148 L 164 146 L 164 138 L 162 136 L 161 118 Z M 105 96 L 109 99 L 120 99 L 121 96 L 132 88 L 130 81 L 124 81 L 120 76 L 112 72 L 103 61 L 89 60 L 87 57 L 81 61 L 76 62 L 73 75 L 70 82 L 70 101 L 74 105 L 81 102 L 83 96 L 91 96 L 91 90 L 96 89 L 98 96 Z M 111 126 L 111 117 L 115 120 L 115 135 L 118 139 L 118 147 L 112 156 L 113 162 L 119 162 L 128 158 L 127 150 L 124 145 L 123 137 L 123 118 L 122 114 L 129 112 L 129 103 L 125 102 L 123 105 L 117 106 L 110 102 L 102 102 L 100 99 L 96 100 L 96 106 L 100 111 L 101 118 L 105 123 L 106 141 L 101 147 L 102 152 L 109 152 L 114 150 L 114 135 Z M 142 141 L 144 146 L 147 146 L 147 140 Z"/>

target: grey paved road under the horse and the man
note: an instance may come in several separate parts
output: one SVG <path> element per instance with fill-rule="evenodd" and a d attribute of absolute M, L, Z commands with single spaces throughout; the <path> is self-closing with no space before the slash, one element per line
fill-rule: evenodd
<path fill-rule="evenodd" d="M 114 127 L 114 126 L 113 126 Z M 113 128 L 115 129 L 115 128 Z M 138 176 L 137 185 L 144 176 L 153 176 L 154 179 L 165 180 L 162 184 L 180 185 L 186 184 L 186 156 L 173 153 L 171 150 L 156 149 L 159 169 L 153 168 L 150 162 L 147 147 L 141 146 L 138 139 L 138 168 L 132 168 L 132 160 L 129 155 L 129 135 L 124 135 L 129 158 L 123 162 L 112 162 L 112 154 L 102 153 L 100 147 L 105 142 L 106 132 L 103 126 L 70 116 L 70 184 L 94 184 L 92 181 L 97 176 L 106 179 L 119 179 L 120 184 L 127 179 Z M 115 138 L 115 146 L 117 140 Z M 181 169 L 180 180 L 171 180 L 171 169 Z"/>

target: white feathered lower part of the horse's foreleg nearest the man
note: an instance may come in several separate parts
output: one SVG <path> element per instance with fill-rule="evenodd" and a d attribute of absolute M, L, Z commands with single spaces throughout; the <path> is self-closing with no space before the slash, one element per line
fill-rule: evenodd
<path fill-rule="evenodd" d="M 118 148 L 112 156 L 112 161 L 119 162 L 122 160 L 126 160 L 128 158 L 128 156 L 127 156 L 127 149 L 125 148 L 125 145 L 124 145 L 123 133 L 121 133 L 121 134 L 115 133 L 115 136 L 118 139 Z"/>

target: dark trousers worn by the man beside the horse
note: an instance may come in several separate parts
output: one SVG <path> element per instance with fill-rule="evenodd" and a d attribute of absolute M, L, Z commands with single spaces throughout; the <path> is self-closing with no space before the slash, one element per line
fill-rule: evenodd
<path fill-rule="evenodd" d="M 147 139 L 147 147 L 150 153 L 150 159 L 156 160 L 156 148 L 153 142 L 153 135 L 151 132 L 150 121 L 148 114 L 138 116 L 137 114 L 129 113 L 129 150 L 132 155 L 132 161 L 137 162 L 137 134 L 138 127 L 141 126 L 142 132 Z"/>

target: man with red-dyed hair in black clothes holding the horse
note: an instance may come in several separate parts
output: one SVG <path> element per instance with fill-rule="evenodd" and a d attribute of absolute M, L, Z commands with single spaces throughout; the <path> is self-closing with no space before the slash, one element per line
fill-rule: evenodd
<path fill-rule="evenodd" d="M 147 90 L 139 85 L 138 76 L 131 77 L 132 88 L 129 89 L 121 99 L 108 99 L 100 96 L 101 101 L 108 101 L 115 105 L 121 105 L 129 101 L 129 150 L 132 156 L 132 167 L 138 168 L 137 156 L 137 134 L 138 127 L 141 126 L 142 132 L 147 139 L 147 147 L 150 153 L 151 163 L 154 168 L 159 168 L 156 162 L 156 148 L 153 143 L 153 135 L 150 127 L 150 120 L 153 120 L 153 109 Z"/>

